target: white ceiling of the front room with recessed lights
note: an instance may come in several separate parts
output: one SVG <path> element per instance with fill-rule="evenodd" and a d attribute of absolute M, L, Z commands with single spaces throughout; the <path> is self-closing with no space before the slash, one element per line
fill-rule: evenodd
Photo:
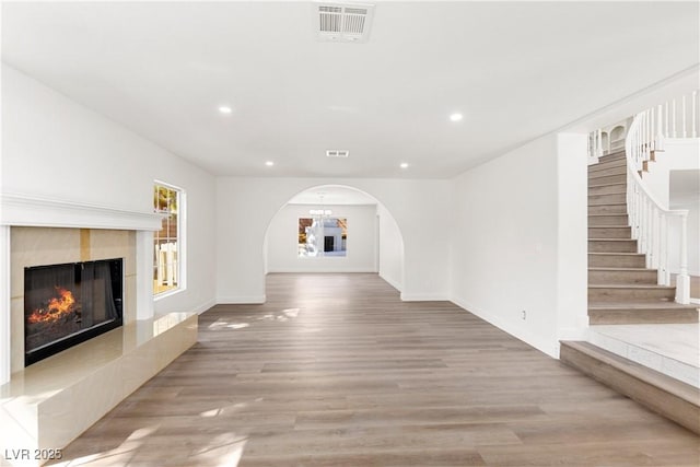
<path fill-rule="evenodd" d="M 697 1 L 376 3 L 336 44 L 312 2 L 3 2 L 2 60 L 215 175 L 410 178 L 699 61 Z"/>

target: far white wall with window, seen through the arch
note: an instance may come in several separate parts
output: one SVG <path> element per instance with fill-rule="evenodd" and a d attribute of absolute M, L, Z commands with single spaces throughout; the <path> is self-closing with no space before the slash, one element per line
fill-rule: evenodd
<path fill-rule="evenodd" d="M 306 205 L 287 205 L 267 230 L 267 271 L 269 272 L 376 272 L 376 206 L 331 206 L 334 218 L 348 220 L 345 257 L 300 258 L 299 219 L 308 218 Z"/>

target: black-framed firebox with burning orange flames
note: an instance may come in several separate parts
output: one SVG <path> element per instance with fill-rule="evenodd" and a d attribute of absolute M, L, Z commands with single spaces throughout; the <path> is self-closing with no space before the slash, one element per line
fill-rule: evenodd
<path fill-rule="evenodd" d="M 25 366 L 122 323 L 122 259 L 24 269 Z"/>

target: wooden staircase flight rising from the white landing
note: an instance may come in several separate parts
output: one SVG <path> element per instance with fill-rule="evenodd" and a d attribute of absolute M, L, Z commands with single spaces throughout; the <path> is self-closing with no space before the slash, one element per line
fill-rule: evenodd
<path fill-rule="evenodd" d="M 674 302 L 637 253 L 627 215 L 625 151 L 588 166 L 588 320 L 591 325 L 698 323 L 697 306 Z"/>

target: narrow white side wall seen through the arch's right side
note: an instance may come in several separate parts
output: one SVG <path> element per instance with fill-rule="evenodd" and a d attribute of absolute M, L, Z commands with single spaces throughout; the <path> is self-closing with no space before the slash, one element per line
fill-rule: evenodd
<path fill-rule="evenodd" d="M 399 292 L 404 290 L 404 238 L 392 214 L 377 206 L 380 277 Z"/>

